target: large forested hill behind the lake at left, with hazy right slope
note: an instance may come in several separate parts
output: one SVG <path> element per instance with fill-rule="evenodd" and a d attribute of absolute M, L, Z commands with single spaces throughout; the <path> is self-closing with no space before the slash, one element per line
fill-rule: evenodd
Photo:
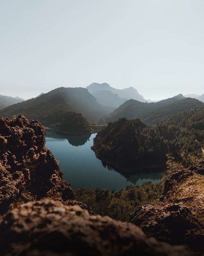
<path fill-rule="evenodd" d="M 13 115 L 23 114 L 29 119 L 37 119 L 44 123 L 52 117 L 53 122 L 57 121 L 58 115 L 63 116 L 67 111 L 81 113 L 90 122 L 97 122 L 102 116 L 113 111 L 113 108 L 98 104 L 95 97 L 85 88 L 61 87 L 2 109 L 0 117 L 12 118 Z"/>

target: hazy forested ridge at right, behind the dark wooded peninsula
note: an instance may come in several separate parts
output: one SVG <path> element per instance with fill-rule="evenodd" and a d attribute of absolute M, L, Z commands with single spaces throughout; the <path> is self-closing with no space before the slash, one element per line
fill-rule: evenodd
<path fill-rule="evenodd" d="M 192 98 L 172 97 L 159 102 L 144 103 L 127 100 L 112 113 L 100 120 L 101 124 L 117 121 L 119 118 L 140 118 L 148 125 L 154 125 L 162 118 L 190 109 L 204 109 L 204 103 Z"/>

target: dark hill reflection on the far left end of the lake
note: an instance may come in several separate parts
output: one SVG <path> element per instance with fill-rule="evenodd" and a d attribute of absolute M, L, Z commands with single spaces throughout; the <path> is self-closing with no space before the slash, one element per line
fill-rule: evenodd
<path fill-rule="evenodd" d="M 55 138 L 55 139 L 67 139 L 69 144 L 72 146 L 82 146 L 89 140 L 91 134 L 86 135 L 68 135 L 63 134 L 60 131 L 53 131 L 51 129 L 47 130 L 46 137 L 47 138 Z"/>

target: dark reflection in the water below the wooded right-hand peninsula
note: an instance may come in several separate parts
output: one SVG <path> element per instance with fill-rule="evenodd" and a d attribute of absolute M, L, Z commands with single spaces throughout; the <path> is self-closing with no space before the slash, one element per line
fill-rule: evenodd
<path fill-rule="evenodd" d="M 113 168 L 113 166 L 108 165 L 106 163 L 102 162 L 102 165 L 106 168 L 108 168 L 108 170 L 110 171 L 114 171 L 114 172 L 119 172 L 122 176 L 124 176 L 126 178 L 127 181 L 130 181 L 131 183 L 133 183 L 134 185 L 137 184 L 137 181 L 141 180 L 141 183 L 143 181 L 147 181 L 147 180 L 151 180 L 151 181 L 159 181 L 164 177 L 164 174 L 166 173 L 166 170 L 149 170 L 146 172 L 139 172 L 139 173 L 135 173 L 135 174 L 124 174 L 122 172 L 120 172 L 119 170 L 115 170 L 115 168 Z"/>

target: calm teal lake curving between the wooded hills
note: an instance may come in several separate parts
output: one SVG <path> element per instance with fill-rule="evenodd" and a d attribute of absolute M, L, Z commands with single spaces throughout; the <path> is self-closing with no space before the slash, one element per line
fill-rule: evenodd
<path fill-rule="evenodd" d="M 120 190 L 127 185 L 141 185 L 144 181 L 159 182 L 165 174 L 163 172 L 148 172 L 124 176 L 95 157 L 91 150 L 96 134 L 66 135 L 47 129 L 46 147 L 59 161 L 64 179 L 73 189 L 109 188 Z"/>

